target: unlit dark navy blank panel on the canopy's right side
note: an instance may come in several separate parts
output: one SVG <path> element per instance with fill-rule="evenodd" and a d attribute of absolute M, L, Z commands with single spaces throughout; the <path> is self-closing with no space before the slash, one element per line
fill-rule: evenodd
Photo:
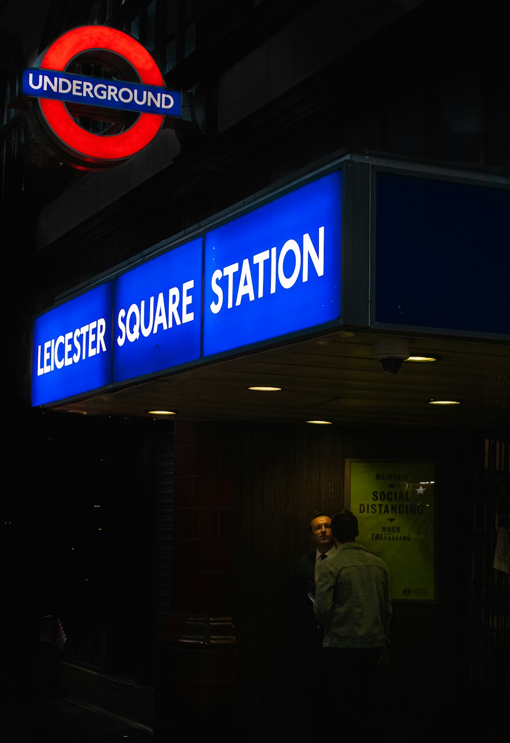
<path fill-rule="evenodd" d="M 377 174 L 376 320 L 510 332 L 510 191 Z"/>

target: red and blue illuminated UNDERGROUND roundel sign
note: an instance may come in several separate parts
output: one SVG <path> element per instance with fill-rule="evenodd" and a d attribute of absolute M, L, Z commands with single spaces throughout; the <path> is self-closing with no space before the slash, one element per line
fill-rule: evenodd
<path fill-rule="evenodd" d="M 112 81 L 99 78 L 94 80 L 72 74 L 58 76 L 58 73 L 65 73 L 80 56 L 99 62 L 108 59 L 108 65 L 112 68 L 134 71 L 142 85 L 117 83 L 115 86 L 107 84 Z M 51 71 L 51 74 L 45 74 L 45 71 Z M 90 80 L 93 82 L 87 82 Z M 125 87 L 120 88 L 120 85 Z M 134 100 L 136 103 L 142 95 L 143 101 L 157 100 L 159 103 L 163 97 L 161 100 L 169 100 L 173 106 L 174 99 L 164 85 L 156 62 L 136 39 L 115 28 L 82 26 L 56 39 L 43 54 L 37 70 L 24 71 L 23 92 L 38 98 L 35 108 L 39 106 L 40 114 L 36 113 L 39 131 L 41 127 L 44 129 L 42 134 L 45 135 L 45 140 L 48 143 L 49 138 L 50 148 L 59 158 L 79 169 L 105 169 L 131 158 L 148 145 L 159 132 L 163 116 L 169 111 L 155 105 L 154 113 L 147 112 L 147 107 L 144 111 L 139 109 L 137 119 L 125 131 L 118 134 L 94 134 L 73 120 L 62 100 L 62 90 L 77 94 L 74 97 L 65 97 L 65 100 L 73 100 L 82 106 L 108 106 L 111 98 L 112 108 L 129 108 L 123 106 L 122 101 Z M 154 90 L 160 92 L 154 94 Z M 107 91 L 108 99 L 105 100 Z M 148 91 L 153 92 L 151 94 Z M 59 94 L 60 100 L 55 100 Z M 99 100 L 101 96 L 103 100 Z M 166 108 L 169 108 L 168 104 Z M 131 105 L 131 110 L 137 109 Z M 82 115 L 86 116 L 86 113 Z"/>

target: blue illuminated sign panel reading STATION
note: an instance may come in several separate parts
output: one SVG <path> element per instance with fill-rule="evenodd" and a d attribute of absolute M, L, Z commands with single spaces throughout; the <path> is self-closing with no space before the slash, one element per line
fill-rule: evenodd
<path fill-rule="evenodd" d="M 340 316 L 341 172 L 206 234 L 205 356 Z"/>

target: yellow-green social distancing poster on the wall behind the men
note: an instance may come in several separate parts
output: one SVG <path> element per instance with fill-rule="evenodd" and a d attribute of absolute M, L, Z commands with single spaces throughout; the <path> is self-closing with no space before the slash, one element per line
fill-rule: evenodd
<path fill-rule="evenodd" d="M 434 465 L 350 461 L 359 542 L 390 570 L 391 597 L 434 600 Z"/>

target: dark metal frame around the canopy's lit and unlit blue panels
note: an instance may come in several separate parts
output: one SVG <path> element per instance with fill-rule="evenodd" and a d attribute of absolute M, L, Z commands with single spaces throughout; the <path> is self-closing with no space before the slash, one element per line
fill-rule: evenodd
<path fill-rule="evenodd" d="M 140 253 L 139 259 L 131 259 L 118 265 L 111 270 L 95 277 L 90 282 L 75 287 L 72 290 L 58 296 L 55 306 L 58 306 L 79 294 L 96 287 L 102 283 L 115 279 L 122 273 L 127 273 L 144 263 L 151 261 L 157 256 L 177 249 L 182 245 L 203 239 L 212 230 L 218 230 L 230 222 L 249 215 L 250 212 L 260 207 L 271 204 L 278 198 L 285 196 L 301 186 L 312 184 L 324 176 L 336 172 L 342 172 L 341 184 L 341 296 L 340 314 L 336 319 L 328 322 L 318 323 L 313 327 L 303 328 L 297 331 L 289 331 L 278 334 L 277 337 L 266 338 L 253 343 L 244 343 L 236 348 L 229 348 L 204 356 L 203 346 L 200 345 L 200 357 L 189 363 L 180 363 L 157 371 L 140 374 L 130 379 L 111 382 L 102 388 L 94 389 L 94 394 L 107 392 L 109 389 L 118 389 L 120 386 L 136 383 L 139 380 L 147 380 L 171 374 L 181 369 L 200 366 L 211 363 L 218 359 L 236 357 L 241 354 L 249 354 L 261 348 L 272 348 L 284 345 L 301 337 L 313 337 L 336 331 L 344 326 L 353 330 L 373 328 L 376 330 L 387 330 L 394 334 L 416 334 L 416 335 L 441 335 L 448 334 L 451 337 L 471 337 L 480 340 L 510 340 L 510 335 L 494 334 L 486 332 L 470 332 L 462 330 L 451 330 L 448 328 L 427 328 L 410 325 L 390 325 L 377 322 L 373 316 L 373 307 L 376 302 L 376 186 L 377 176 L 380 172 L 395 173 L 397 175 L 408 175 L 411 177 L 429 178 L 434 181 L 447 181 L 452 184 L 471 184 L 487 188 L 509 189 L 508 180 L 500 175 L 488 175 L 486 173 L 460 172 L 459 170 L 441 168 L 436 166 L 425 166 L 419 163 L 402 163 L 391 158 L 376 158 L 370 155 L 359 155 L 347 150 L 331 155 L 315 163 L 313 167 L 303 169 L 298 174 L 289 176 L 279 184 L 269 186 L 261 192 L 234 204 L 223 212 L 206 219 L 195 227 L 190 227 L 166 239 Z M 203 247 L 203 251 L 205 246 Z M 204 256 L 204 252 L 203 252 Z M 59 398 L 59 403 L 71 400 L 83 399 L 93 394 L 92 390 L 87 395 L 81 393 L 66 398 Z M 48 404 L 56 404 L 52 400 Z M 47 404 L 47 403 L 42 403 Z"/>

